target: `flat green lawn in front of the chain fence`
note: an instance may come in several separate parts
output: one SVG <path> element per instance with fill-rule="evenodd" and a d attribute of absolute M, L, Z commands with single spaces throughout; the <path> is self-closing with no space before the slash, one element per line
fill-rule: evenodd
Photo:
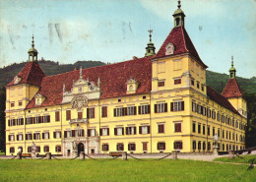
<path fill-rule="evenodd" d="M 247 164 L 194 160 L 0 160 L 0 181 L 256 181 Z"/>

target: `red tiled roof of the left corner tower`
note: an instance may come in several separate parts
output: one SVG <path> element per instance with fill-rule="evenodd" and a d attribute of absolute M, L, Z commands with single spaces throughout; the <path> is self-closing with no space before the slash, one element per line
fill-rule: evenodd
<path fill-rule="evenodd" d="M 29 62 L 17 76 L 22 78 L 19 84 L 31 84 L 32 86 L 40 87 L 41 80 L 45 77 L 45 74 L 37 62 Z M 7 86 L 13 85 L 14 80 Z"/>

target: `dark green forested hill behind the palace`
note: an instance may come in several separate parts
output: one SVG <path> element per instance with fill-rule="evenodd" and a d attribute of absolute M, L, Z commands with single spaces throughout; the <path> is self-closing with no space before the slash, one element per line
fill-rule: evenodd
<path fill-rule="evenodd" d="M 101 61 L 78 61 L 74 64 L 59 64 L 58 62 L 39 60 L 39 65 L 47 76 L 56 75 L 64 72 L 73 71 L 75 68 L 91 68 L 96 66 L 105 65 Z M 14 76 L 16 76 L 25 66 L 26 62 L 20 64 L 12 64 L 5 68 L 0 68 L 0 88 L 9 84 Z M 226 71 L 228 73 L 228 71 Z M 207 85 L 222 92 L 228 80 L 227 74 L 220 74 L 212 71 L 207 71 Z M 256 77 L 251 79 L 244 79 L 237 77 L 237 81 L 243 92 L 254 93 L 256 92 Z"/>

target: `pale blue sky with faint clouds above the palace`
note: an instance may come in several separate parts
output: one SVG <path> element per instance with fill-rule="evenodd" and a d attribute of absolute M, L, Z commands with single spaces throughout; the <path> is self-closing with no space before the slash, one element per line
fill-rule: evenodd
<path fill-rule="evenodd" d="M 182 0 L 188 31 L 208 70 L 256 76 L 256 1 Z M 38 57 L 120 62 L 143 57 L 154 30 L 157 48 L 173 28 L 176 0 L 0 0 L 0 67 Z M 202 28 L 202 29 L 200 29 Z"/>

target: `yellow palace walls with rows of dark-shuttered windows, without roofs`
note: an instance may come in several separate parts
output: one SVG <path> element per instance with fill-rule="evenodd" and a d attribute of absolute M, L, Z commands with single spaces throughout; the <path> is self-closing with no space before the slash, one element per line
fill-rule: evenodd
<path fill-rule="evenodd" d="M 100 98 L 99 80 L 90 83 L 81 70 L 71 91 L 63 85 L 62 103 L 49 106 L 40 106 L 47 98 L 39 87 L 6 87 L 6 154 L 18 148 L 30 153 L 33 142 L 38 154 L 65 156 L 82 151 L 213 152 L 215 134 L 220 152 L 245 148 L 246 117 L 209 96 L 206 67 L 196 58 L 183 53 L 153 59 L 151 79 L 148 93 L 136 94 L 139 84 L 131 78 L 126 95 Z M 26 108 L 33 97 L 36 106 Z M 228 100 L 246 112 L 242 97 Z"/>

